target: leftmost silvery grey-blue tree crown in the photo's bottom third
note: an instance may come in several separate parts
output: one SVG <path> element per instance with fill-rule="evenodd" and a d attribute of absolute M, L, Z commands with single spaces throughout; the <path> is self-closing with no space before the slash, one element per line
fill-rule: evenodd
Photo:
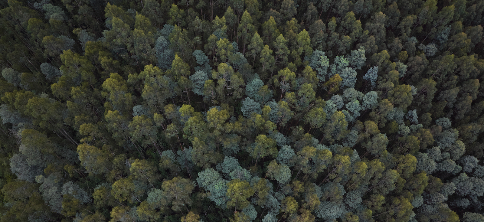
<path fill-rule="evenodd" d="M 21 153 L 17 153 L 10 158 L 10 169 L 19 179 L 33 182 L 35 177 L 42 175 L 44 170 L 38 166 L 30 166 L 27 158 Z"/>

